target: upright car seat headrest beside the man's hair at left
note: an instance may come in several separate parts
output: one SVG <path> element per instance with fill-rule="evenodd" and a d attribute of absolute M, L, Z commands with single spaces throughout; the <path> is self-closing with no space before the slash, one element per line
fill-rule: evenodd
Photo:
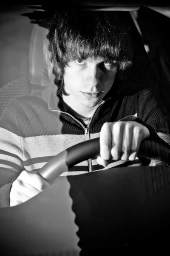
<path fill-rule="evenodd" d="M 33 85 L 41 85 L 45 61 L 43 58 L 43 40 L 48 32 L 51 19 L 43 20 L 40 25 L 35 24 L 29 47 L 29 79 Z"/>

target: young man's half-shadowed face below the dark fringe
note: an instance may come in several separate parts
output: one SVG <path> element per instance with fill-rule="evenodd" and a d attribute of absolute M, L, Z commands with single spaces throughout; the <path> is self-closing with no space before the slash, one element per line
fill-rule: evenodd
<path fill-rule="evenodd" d="M 70 61 L 64 72 L 65 91 L 70 95 L 64 101 L 77 112 L 96 107 L 111 89 L 116 72 L 117 64 L 101 57 Z"/>

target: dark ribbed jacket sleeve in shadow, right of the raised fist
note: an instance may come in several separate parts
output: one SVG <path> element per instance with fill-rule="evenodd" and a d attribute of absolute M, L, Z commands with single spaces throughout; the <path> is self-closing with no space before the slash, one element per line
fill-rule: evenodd
<path fill-rule="evenodd" d="M 141 122 L 149 129 L 150 140 L 169 148 L 170 119 L 159 96 L 155 97 L 149 89 L 144 89 L 139 92 L 138 102 L 136 122 Z M 149 166 L 169 166 L 161 161 L 161 157 L 150 160 Z"/>

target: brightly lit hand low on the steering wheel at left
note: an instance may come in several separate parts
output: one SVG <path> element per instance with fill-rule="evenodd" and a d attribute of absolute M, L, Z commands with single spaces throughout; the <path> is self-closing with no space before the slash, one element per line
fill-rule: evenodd
<path fill-rule="evenodd" d="M 9 195 L 10 206 L 26 202 L 48 186 L 50 186 L 50 184 L 36 172 L 21 172 L 17 179 L 12 183 Z"/>

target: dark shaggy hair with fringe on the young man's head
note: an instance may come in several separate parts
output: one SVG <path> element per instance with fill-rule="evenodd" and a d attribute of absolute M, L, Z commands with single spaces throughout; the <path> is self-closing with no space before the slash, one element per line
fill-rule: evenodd
<path fill-rule="evenodd" d="M 51 81 L 58 86 L 57 95 L 67 95 L 64 68 L 75 59 L 101 56 L 118 63 L 118 73 L 132 64 L 130 38 L 121 21 L 121 12 L 57 12 L 44 40 L 44 58 Z"/>

